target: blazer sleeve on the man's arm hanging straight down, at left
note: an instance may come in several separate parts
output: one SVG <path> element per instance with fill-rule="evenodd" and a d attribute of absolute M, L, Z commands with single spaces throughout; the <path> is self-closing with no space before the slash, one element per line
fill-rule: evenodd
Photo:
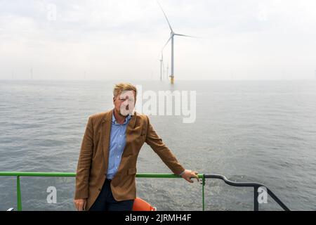
<path fill-rule="evenodd" d="M 88 198 L 88 180 L 90 174 L 91 158 L 93 152 L 93 124 L 91 117 L 88 118 L 86 131 L 81 142 L 81 150 L 77 165 L 76 191 L 74 199 Z"/>

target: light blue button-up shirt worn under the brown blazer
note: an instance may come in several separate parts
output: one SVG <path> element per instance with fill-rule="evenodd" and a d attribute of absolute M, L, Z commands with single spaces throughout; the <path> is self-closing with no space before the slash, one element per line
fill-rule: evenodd
<path fill-rule="evenodd" d="M 107 179 L 113 179 L 119 169 L 121 155 L 123 154 L 126 144 L 126 128 L 129 124 L 129 120 L 131 120 L 131 115 L 125 118 L 123 124 L 119 124 L 117 120 L 115 120 L 114 112 L 112 113 Z"/>

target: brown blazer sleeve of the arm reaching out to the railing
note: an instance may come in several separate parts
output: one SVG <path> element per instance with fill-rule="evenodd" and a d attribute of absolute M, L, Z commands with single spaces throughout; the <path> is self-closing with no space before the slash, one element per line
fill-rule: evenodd
<path fill-rule="evenodd" d="M 159 158 L 162 159 L 164 164 L 166 164 L 169 169 L 173 172 L 173 174 L 179 175 L 181 174 L 185 168 L 180 165 L 178 160 L 176 159 L 176 156 L 173 155 L 171 150 L 162 142 L 162 139 L 157 135 L 156 131 L 154 131 L 154 128 L 152 127 L 152 124 L 150 124 L 149 118 L 147 118 L 147 134 L 145 142 L 154 150 L 157 155 L 159 155 Z"/>

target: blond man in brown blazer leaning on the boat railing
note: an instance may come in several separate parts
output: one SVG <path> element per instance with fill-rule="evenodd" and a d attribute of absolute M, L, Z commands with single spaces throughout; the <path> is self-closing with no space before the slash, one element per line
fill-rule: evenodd
<path fill-rule="evenodd" d="M 77 165 L 74 205 L 77 210 L 131 211 L 136 198 L 136 162 L 146 142 L 183 179 L 199 181 L 184 169 L 154 131 L 146 115 L 133 112 L 137 90 L 132 84 L 114 86 L 114 109 L 88 118 Z"/>

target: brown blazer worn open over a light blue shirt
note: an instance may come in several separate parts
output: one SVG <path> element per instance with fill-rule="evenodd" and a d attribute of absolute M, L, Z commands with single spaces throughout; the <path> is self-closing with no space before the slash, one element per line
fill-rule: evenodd
<path fill-rule="evenodd" d="M 86 125 L 74 195 L 74 199 L 87 198 L 85 210 L 89 210 L 95 202 L 107 176 L 112 113 L 113 110 L 110 110 L 91 115 Z M 144 142 L 150 145 L 173 174 L 180 174 L 185 170 L 156 134 L 147 115 L 134 113 L 126 128 L 126 146 L 121 164 L 110 183 L 113 197 L 117 201 L 136 198 L 136 162 Z"/>

